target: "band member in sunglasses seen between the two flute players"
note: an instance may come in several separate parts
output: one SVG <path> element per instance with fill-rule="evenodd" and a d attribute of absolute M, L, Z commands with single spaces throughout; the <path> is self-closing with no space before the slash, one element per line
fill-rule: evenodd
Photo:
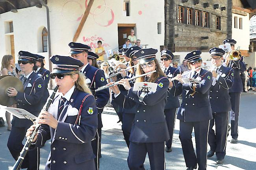
<path fill-rule="evenodd" d="M 170 50 L 161 51 L 161 65 L 163 72 L 167 75 L 169 79 L 174 78 L 177 74 L 180 74 L 180 70 L 171 67 L 174 55 Z M 180 107 L 180 102 L 176 96 L 176 85 L 178 81 L 174 80 L 170 82 L 170 87 L 167 92 L 167 103 L 165 105 L 165 120 L 167 123 L 170 139 L 166 142 L 166 152 L 172 152 L 173 143 L 173 131 L 175 126 L 176 111 Z"/>

